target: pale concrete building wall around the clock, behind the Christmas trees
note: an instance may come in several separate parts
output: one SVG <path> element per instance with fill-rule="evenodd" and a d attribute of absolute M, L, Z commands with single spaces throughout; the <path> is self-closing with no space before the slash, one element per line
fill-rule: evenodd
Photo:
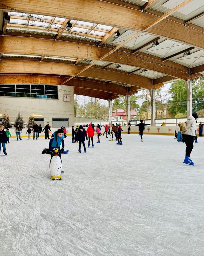
<path fill-rule="evenodd" d="M 72 86 L 58 85 L 58 99 L 36 99 L 24 97 L 0 97 L 0 114 L 8 113 L 10 121 L 14 122 L 20 112 L 24 122 L 28 121 L 31 114 L 42 115 L 44 125 L 52 118 L 69 118 L 69 126 L 74 124 L 74 93 Z M 70 101 L 63 101 L 63 95 L 69 94 Z M 55 128 L 56 129 L 56 128 Z"/>

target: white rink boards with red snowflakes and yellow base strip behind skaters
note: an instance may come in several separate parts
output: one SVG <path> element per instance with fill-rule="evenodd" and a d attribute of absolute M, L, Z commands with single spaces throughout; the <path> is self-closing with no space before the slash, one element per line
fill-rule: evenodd
<path fill-rule="evenodd" d="M 171 135 L 172 136 L 175 134 L 176 128 L 177 128 L 177 126 L 145 126 L 145 130 L 144 130 L 143 134 L 151 134 L 151 135 L 157 134 L 157 135 Z M 49 134 L 49 137 L 51 137 L 51 135 L 59 128 L 51 128 L 51 129 L 52 129 L 52 131 Z M 87 129 L 87 127 L 85 128 L 85 130 L 86 129 Z M 122 132 L 123 134 L 128 133 L 127 126 L 122 126 L 122 129 L 123 129 L 123 132 Z M 22 133 L 21 133 L 22 138 L 28 138 L 26 131 L 27 131 L 27 128 L 24 128 L 22 130 Z M 71 131 L 72 131 L 72 127 L 68 127 L 66 135 L 72 136 Z M 101 127 L 101 133 L 104 133 L 103 126 Z M 199 133 L 199 129 L 197 126 L 197 135 L 199 135 L 198 133 Z M 10 134 L 11 134 L 12 138 L 16 138 L 16 134 L 14 133 L 14 128 L 10 128 Z M 94 134 L 97 135 L 96 133 L 94 133 Z M 131 126 L 130 134 L 139 134 L 138 126 Z M 204 129 L 203 129 L 202 134 L 204 135 Z M 44 132 L 40 134 L 40 137 L 45 137 Z M 33 132 L 31 132 L 31 134 L 30 134 L 30 140 L 32 140 L 32 139 L 33 139 Z"/>

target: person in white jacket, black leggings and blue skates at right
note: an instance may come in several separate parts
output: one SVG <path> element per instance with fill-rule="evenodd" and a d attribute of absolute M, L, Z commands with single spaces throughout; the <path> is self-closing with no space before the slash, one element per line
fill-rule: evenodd
<path fill-rule="evenodd" d="M 186 144 L 186 157 L 183 163 L 194 165 L 193 161 L 190 159 L 190 154 L 193 150 L 193 140 L 196 136 L 196 120 L 198 120 L 197 113 L 193 113 L 192 116 L 187 118 L 186 121 L 186 131 L 182 132 L 182 142 Z"/>

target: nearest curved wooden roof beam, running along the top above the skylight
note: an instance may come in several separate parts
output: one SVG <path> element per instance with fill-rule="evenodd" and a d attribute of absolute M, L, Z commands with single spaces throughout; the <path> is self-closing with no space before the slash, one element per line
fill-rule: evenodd
<path fill-rule="evenodd" d="M 37 4 L 34 0 L 1 0 L 1 4 L 9 6 L 10 10 L 13 8 L 14 10 L 25 13 L 71 18 L 139 32 L 142 32 L 144 27 L 155 21 L 155 15 L 151 13 L 97 0 L 50 0 L 49 4 L 44 0 L 37 1 Z M 3 5 L 2 7 L 5 8 Z M 114 15 L 112 12 L 113 8 Z M 175 23 L 169 19 L 165 19 L 149 29 L 148 34 L 182 42 L 202 50 L 204 49 L 204 33 L 200 33 L 199 30 L 188 26 L 185 27 L 183 24 Z"/>

